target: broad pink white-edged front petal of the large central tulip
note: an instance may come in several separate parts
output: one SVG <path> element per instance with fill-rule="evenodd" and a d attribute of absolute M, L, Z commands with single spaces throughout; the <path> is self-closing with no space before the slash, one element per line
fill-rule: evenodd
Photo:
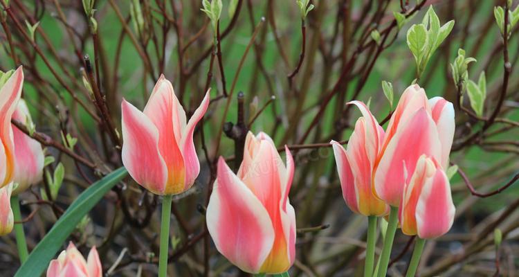
<path fill-rule="evenodd" d="M 275 238 L 271 217 L 221 157 L 206 220 L 222 255 L 243 271 L 260 272 Z"/>

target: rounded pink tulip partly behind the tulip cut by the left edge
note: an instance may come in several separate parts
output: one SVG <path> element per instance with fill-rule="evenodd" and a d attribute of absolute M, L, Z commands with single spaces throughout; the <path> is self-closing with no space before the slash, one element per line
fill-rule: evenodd
<path fill-rule="evenodd" d="M 20 99 L 12 118 L 21 123 L 32 122 L 26 102 Z M 30 136 L 21 132 L 17 127 L 12 127 L 15 139 L 15 178 L 17 185 L 12 192 L 17 195 L 26 190 L 30 185 L 42 180 L 44 168 L 44 152 L 42 145 Z"/>

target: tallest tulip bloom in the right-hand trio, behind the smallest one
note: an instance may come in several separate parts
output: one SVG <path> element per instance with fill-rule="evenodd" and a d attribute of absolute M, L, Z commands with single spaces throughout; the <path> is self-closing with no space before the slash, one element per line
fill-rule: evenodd
<path fill-rule="evenodd" d="M 428 100 L 417 84 L 408 87 L 390 118 L 375 163 L 375 195 L 390 206 L 399 206 L 403 187 L 422 154 L 446 168 L 454 129 L 452 103 L 441 97 Z"/>

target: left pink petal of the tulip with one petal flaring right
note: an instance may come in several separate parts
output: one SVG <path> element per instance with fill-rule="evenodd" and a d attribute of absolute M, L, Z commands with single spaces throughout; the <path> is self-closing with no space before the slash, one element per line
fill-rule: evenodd
<path fill-rule="evenodd" d="M 158 130 L 149 118 L 122 100 L 122 164 L 138 184 L 165 194 L 166 164 L 158 150 Z"/>

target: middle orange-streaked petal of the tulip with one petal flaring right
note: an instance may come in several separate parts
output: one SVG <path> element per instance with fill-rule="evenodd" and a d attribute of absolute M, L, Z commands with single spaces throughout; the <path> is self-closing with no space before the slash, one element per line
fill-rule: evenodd
<path fill-rule="evenodd" d="M 164 194 L 182 193 L 185 188 L 185 164 L 181 152 L 181 137 L 185 129 L 185 111 L 173 91 L 170 81 L 161 75 L 143 113 L 158 130 L 158 150 L 167 168 Z"/>

